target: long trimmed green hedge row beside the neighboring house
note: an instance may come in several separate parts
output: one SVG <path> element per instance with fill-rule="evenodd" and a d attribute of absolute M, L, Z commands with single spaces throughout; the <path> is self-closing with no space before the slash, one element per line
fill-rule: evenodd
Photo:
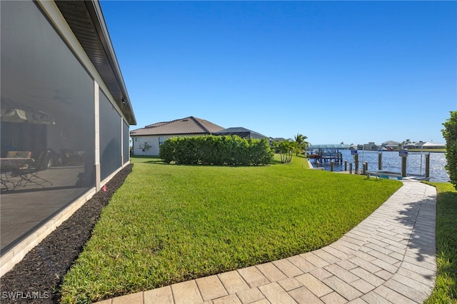
<path fill-rule="evenodd" d="M 259 166 L 273 161 L 273 151 L 266 138 L 239 136 L 169 138 L 160 146 L 159 156 L 166 163 L 187 165 Z"/>

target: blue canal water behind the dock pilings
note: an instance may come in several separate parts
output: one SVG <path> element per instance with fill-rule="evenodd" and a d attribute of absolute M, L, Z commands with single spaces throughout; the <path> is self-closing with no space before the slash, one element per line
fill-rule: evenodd
<path fill-rule="evenodd" d="M 343 171 L 344 161 L 353 163 L 352 168 L 355 169 L 354 158 L 351 156 L 350 150 L 340 150 L 343 155 L 343 163 L 334 163 L 333 171 Z M 401 172 L 401 157 L 398 156 L 398 151 L 383 151 L 382 152 L 383 171 Z M 378 170 L 378 151 L 361 151 L 358 150 L 358 168 L 363 168 L 363 163 L 368 162 L 368 171 Z M 314 160 L 311 160 L 314 168 L 317 167 Z M 444 153 L 430 153 L 430 181 L 447 182 L 449 175 L 444 166 L 446 166 L 446 156 Z M 425 174 L 426 157 L 425 152 L 408 152 L 406 161 L 406 175 L 408 174 Z M 326 171 L 330 171 L 330 163 L 321 164 Z"/>

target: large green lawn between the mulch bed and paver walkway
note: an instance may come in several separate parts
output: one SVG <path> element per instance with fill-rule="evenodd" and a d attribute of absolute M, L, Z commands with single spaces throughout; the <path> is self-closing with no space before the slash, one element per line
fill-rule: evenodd
<path fill-rule="evenodd" d="M 176 166 L 132 158 L 61 286 L 86 303 L 285 258 L 332 243 L 398 181 L 271 166 Z"/>

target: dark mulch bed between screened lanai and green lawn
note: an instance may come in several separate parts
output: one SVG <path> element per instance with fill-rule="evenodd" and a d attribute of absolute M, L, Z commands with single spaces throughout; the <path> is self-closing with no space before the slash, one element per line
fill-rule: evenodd
<path fill-rule="evenodd" d="M 59 303 L 59 285 L 84 248 L 102 209 L 131 173 L 129 164 L 0 279 L 1 303 Z"/>

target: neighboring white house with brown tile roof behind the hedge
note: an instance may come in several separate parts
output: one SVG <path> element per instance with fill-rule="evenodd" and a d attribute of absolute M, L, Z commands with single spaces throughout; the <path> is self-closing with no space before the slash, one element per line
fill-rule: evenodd
<path fill-rule="evenodd" d="M 174 121 L 162 121 L 153 123 L 130 131 L 133 139 L 134 155 L 159 155 L 159 146 L 168 138 L 176 136 L 204 136 L 224 130 L 211 121 L 189 116 L 186 118 L 176 119 Z M 148 151 L 142 151 L 141 146 L 148 143 L 151 148 Z"/>

